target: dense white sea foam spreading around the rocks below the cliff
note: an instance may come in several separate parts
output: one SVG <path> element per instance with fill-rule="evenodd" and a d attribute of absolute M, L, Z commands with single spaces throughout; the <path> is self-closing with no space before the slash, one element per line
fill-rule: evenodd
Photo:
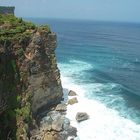
<path fill-rule="evenodd" d="M 82 67 L 82 69 L 85 68 Z M 61 74 L 63 74 L 63 72 Z M 74 72 L 74 70 L 72 72 Z M 64 75 L 67 76 L 67 73 Z M 85 98 L 84 95 L 90 92 L 92 88 L 89 87 L 89 85 L 80 85 L 70 76 L 66 76 L 61 76 L 63 87 L 74 90 L 78 94 L 77 98 L 79 103 L 68 105 L 67 117 L 71 120 L 71 124 L 77 127 L 80 140 L 140 140 L 139 124 L 121 117 L 119 112 L 107 108 L 99 101 Z M 102 88 L 101 84 L 94 86 L 96 90 Z M 112 84 L 112 87 L 113 86 Z M 81 111 L 87 112 L 90 119 L 77 123 L 75 116 L 77 112 Z"/>

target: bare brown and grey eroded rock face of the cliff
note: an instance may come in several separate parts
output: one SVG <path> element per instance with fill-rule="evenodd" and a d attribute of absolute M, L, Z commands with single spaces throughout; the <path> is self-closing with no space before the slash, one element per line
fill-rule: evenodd
<path fill-rule="evenodd" d="M 42 109 L 55 105 L 62 99 L 60 73 L 57 68 L 55 50 L 56 34 L 38 34 L 26 48 L 30 60 L 29 83 L 33 88 L 32 111 L 37 114 Z"/>

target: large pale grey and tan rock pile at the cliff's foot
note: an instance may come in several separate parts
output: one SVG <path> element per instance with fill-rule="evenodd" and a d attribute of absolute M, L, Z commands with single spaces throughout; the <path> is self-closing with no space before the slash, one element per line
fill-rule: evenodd
<path fill-rule="evenodd" d="M 32 131 L 30 139 L 67 140 L 68 137 L 76 137 L 77 129 L 70 125 L 70 120 L 65 117 L 65 114 L 66 111 L 56 111 L 56 109 L 44 114 L 45 117 L 40 120 L 40 129 Z"/>

